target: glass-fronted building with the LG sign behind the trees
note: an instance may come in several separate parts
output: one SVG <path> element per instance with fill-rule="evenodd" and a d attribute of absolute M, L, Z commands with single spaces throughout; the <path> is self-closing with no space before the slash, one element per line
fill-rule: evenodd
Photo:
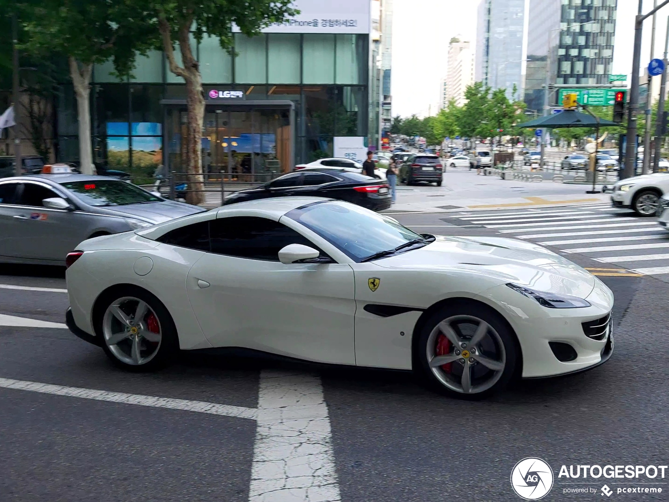
<path fill-rule="evenodd" d="M 207 103 L 205 173 L 288 171 L 332 156 L 334 137 L 369 137 L 369 33 L 235 33 L 232 55 L 215 37 L 191 44 Z M 135 175 L 161 164 L 183 169 L 185 92 L 159 51 L 138 58 L 122 80 L 111 62 L 95 66 L 94 161 Z M 58 159 L 77 159 L 72 86 L 64 88 L 57 129 Z"/>

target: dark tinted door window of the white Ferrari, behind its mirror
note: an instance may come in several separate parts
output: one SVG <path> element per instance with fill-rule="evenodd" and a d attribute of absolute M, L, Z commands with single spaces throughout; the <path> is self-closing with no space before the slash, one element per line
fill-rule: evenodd
<path fill-rule="evenodd" d="M 238 258 L 278 262 L 279 251 L 288 244 L 316 247 L 292 228 L 266 218 L 218 218 L 210 228 L 211 252 Z"/>

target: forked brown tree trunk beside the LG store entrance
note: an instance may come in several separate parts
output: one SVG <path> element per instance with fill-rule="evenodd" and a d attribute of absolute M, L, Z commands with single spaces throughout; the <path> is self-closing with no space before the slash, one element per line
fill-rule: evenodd
<path fill-rule="evenodd" d="M 179 26 L 179 50 L 183 68 L 177 65 L 171 37 L 171 27 L 163 15 L 159 15 L 159 29 L 163 39 L 163 50 L 167 56 L 170 71 L 186 82 L 186 103 L 188 108 L 186 173 L 188 191 L 186 201 L 191 204 L 205 202 L 204 179 L 202 176 L 202 126 L 205 114 L 205 99 L 202 94 L 202 77 L 199 63 L 190 44 L 192 18 L 186 19 Z"/>

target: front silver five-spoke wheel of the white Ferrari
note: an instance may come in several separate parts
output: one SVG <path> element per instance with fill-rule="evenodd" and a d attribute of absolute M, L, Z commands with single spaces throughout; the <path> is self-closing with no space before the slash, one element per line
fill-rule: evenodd
<path fill-rule="evenodd" d="M 429 369 L 446 388 L 478 394 L 494 386 L 504 372 L 506 351 L 500 335 L 486 321 L 454 315 L 438 323 L 427 338 Z"/>

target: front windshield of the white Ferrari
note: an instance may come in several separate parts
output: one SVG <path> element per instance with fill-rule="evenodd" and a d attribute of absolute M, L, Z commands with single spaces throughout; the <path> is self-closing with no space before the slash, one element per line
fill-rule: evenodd
<path fill-rule="evenodd" d="M 379 252 L 391 252 L 409 242 L 416 241 L 418 244 L 418 241 L 425 240 L 420 234 L 385 216 L 343 201 L 298 207 L 288 212 L 286 217 L 312 230 L 356 262 Z"/>

